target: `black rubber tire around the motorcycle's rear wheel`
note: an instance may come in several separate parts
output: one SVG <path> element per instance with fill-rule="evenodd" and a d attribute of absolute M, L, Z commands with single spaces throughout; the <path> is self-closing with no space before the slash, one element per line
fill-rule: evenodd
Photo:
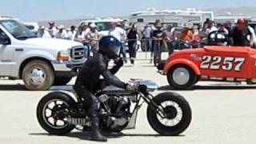
<path fill-rule="evenodd" d="M 70 98 L 70 96 L 67 94 L 64 94 L 61 92 L 53 92 L 53 93 L 47 94 L 38 103 L 38 107 L 37 107 L 38 122 L 40 126 L 42 126 L 42 128 L 46 130 L 49 134 L 63 135 L 63 134 L 70 133 L 70 131 L 74 130 L 75 126 L 69 125 L 69 124 L 63 127 L 50 126 L 49 122 L 46 122 L 46 118 L 44 118 L 44 114 L 43 114 L 45 112 L 44 107 L 48 102 L 51 102 L 54 99 L 58 99 L 62 102 L 66 102 L 68 106 L 72 106 L 75 104 L 74 99 Z"/>

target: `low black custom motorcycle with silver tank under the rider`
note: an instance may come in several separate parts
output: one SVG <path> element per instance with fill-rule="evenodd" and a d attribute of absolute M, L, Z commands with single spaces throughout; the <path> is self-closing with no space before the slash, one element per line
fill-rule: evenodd
<path fill-rule="evenodd" d="M 106 86 L 96 93 L 99 100 L 98 115 L 102 130 L 120 132 L 134 129 L 138 110 L 147 103 L 146 115 L 150 126 L 158 134 L 172 136 L 181 134 L 190 125 L 191 109 L 186 99 L 176 93 L 153 96 L 150 92 L 157 85 L 148 80 L 130 81 L 138 90 L 127 91 Z M 74 90 L 55 88 L 38 103 L 39 124 L 50 134 L 67 134 L 74 128 L 90 130 L 88 106 L 78 98 Z M 81 129 L 83 127 L 83 129 Z"/>

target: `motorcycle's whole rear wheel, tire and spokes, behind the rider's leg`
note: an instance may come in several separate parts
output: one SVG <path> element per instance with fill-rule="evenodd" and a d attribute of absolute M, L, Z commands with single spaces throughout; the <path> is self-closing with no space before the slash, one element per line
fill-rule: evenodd
<path fill-rule="evenodd" d="M 70 106 L 74 100 L 62 93 L 50 93 L 38 104 L 38 122 L 50 134 L 66 134 L 74 129 L 67 123 Z"/>

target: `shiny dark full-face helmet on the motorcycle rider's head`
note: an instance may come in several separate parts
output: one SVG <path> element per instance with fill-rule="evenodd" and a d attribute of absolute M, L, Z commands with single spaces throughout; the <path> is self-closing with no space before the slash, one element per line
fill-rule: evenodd
<path fill-rule="evenodd" d="M 121 42 L 113 36 L 102 37 L 98 44 L 98 52 L 105 54 L 108 58 L 116 59 L 119 57 Z"/>

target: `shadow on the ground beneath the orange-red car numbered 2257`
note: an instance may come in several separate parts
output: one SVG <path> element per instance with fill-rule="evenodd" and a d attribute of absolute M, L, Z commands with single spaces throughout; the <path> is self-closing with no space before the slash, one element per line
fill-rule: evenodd
<path fill-rule="evenodd" d="M 191 90 L 250 90 L 256 89 L 256 86 L 226 86 L 226 85 L 211 85 L 211 86 L 194 86 Z M 174 90 L 171 86 L 161 86 L 158 90 Z"/>

